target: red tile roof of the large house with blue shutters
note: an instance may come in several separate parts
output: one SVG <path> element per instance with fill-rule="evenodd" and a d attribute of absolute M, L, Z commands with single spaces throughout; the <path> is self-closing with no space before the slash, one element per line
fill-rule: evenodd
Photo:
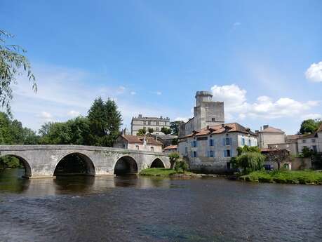
<path fill-rule="evenodd" d="M 217 133 L 232 133 L 232 132 L 239 132 L 239 133 L 246 133 L 250 135 L 256 135 L 249 128 L 245 128 L 241 126 L 239 123 L 225 123 L 223 125 L 217 126 L 208 126 L 207 128 L 203 128 L 200 131 L 194 131 L 194 133 L 187 135 L 185 137 L 192 137 L 192 136 L 201 136 L 201 135 L 213 135 Z"/>

